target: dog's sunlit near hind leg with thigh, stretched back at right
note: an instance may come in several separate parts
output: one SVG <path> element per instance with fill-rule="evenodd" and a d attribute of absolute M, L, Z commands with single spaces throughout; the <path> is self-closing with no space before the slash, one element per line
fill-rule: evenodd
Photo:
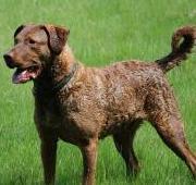
<path fill-rule="evenodd" d="M 148 121 L 156 127 L 166 145 L 189 168 L 196 176 L 196 156 L 185 139 L 183 122 L 173 90 L 163 76 L 156 78 L 146 98 Z"/>

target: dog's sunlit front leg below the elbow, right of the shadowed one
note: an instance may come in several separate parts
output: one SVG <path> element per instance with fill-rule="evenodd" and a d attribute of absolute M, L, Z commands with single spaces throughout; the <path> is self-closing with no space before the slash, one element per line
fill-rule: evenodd
<path fill-rule="evenodd" d="M 83 153 L 83 185 L 94 185 L 97 163 L 98 139 L 90 139 L 88 145 L 81 147 Z"/>

